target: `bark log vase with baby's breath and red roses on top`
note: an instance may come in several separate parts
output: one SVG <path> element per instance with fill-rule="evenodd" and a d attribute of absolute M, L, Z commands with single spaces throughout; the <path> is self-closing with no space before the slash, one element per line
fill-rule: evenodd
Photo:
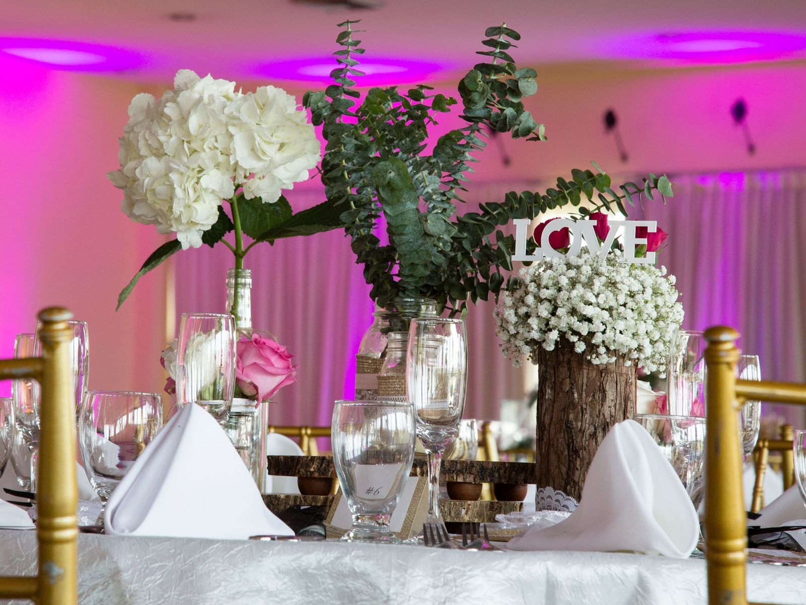
<path fill-rule="evenodd" d="M 594 213 L 596 238 L 607 239 L 607 215 Z M 539 239 L 546 223 L 535 229 Z M 638 233 L 655 252 L 663 230 Z M 566 230 L 550 235 L 559 252 Z M 613 424 L 635 413 L 636 370 L 664 372 L 672 333 L 683 321 L 675 277 L 664 267 L 624 261 L 617 241 L 604 256 L 551 257 L 521 269 L 519 286 L 501 294 L 497 333 L 506 357 L 539 367 L 538 499 L 544 507 L 573 507 L 593 455 Z"/>

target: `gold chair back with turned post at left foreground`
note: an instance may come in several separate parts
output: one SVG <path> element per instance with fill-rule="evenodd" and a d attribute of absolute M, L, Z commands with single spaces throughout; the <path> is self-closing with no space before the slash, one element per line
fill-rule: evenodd
<path fill-rule="evenodd" d="M 77 603 L 77 507 L 75 402 L 67 321 L 60 307 L 39 313 L 42 357 L 0 361 L 0 380 L 39 382 L 39 470 L 36 477 L 36 577 L 0 578 L 0 599 L 31 599 L 39 605 Z"/>

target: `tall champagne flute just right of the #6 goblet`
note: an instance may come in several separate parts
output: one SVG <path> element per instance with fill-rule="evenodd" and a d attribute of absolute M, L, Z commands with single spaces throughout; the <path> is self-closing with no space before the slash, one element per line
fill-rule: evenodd
<path fill-rule="evenodd" d="M 429 524 L 442 524 L 439 469 L 442 453 L 459 428 L 466 382 L 467 337 L 463 320 L 412 319 L 406 388 L 414 404 L 417 435 L 428 456 Z"/>

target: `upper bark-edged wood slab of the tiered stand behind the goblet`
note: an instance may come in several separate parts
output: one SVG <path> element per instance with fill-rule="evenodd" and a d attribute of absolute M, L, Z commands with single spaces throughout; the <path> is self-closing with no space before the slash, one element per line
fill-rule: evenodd
<path fill-rule="evenodd" d="M 465 483 L 533 483 L 535 465 L 531 462 L 489 462 L 478 460 L 443 460 L 440 481 Z M 268 456 L 268 474 L 281 477 L 335 477 L 333 458 L 329 456 Z M 415 457 L 412 477 L 428 474 L 426 459 Z"/>

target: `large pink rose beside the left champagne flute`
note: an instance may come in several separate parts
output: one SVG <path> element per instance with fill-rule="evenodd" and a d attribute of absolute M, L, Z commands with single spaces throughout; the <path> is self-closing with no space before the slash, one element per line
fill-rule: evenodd
<path fill-rule="evenodd" d="M 282 344 L 253 334 L 251 340 L 240 340 L 235 361 L 235 382 L 247 397 L 258 403 L 268 401 L 286 385 L 297 380 L 297 366 Z"/>

